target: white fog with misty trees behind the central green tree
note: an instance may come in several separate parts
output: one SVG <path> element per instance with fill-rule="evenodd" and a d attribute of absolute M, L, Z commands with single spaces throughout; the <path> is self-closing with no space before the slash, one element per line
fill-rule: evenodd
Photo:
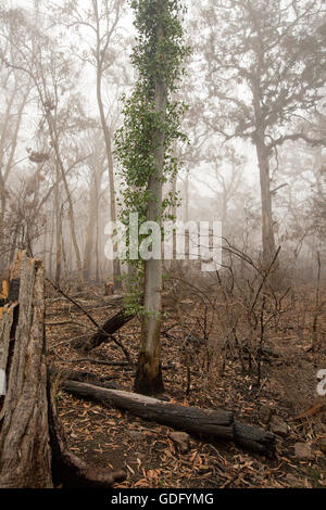
<path fill-rule="evenodd" d="M 325 254 L 325 5 L 188 2 L 178 219 L 313 278 Z M 1 266 L 16 248 L 58 282 L 118 278 L 104 228 L 120 209 L 114 137 L 137 72 L 127 1 L 1 7 Z M 322 264 L 323 266 L 323 264 Z M 126 271 L 126 267 L 123 267 Z"/>

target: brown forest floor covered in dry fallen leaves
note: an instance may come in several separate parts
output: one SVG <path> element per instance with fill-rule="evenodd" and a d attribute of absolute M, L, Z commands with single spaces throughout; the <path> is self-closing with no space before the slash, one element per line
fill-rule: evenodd
<path fill-rule="evenodd" d="M 70 292 L 76 295 L 74 290 Z M 326 438 L 326 406 L 325 397 L 317 397 L 316 393 L 317 371 L 326 369 L 326 318 L 321 316 L 318 321 L 322 348 L 318 353 L 306 353 L 312 343 L 312 295 L 313 290 L 309 288 L 297 290 L 294 302 L 281 315 L 277 328 L 271 329 L 264 345 L 272 355 L 263 359 L 260 386 L 254 360 L 252 371 L 242 373 L 237 350 L 221 348 L 224 345 L 221 331 L 214 330 L 214 324 L 206 343 L 185 347 L 185 327 L 200 337 L 204 313 L 191 296 L 184 302 L 184 324 L 170 305 L 162 328 L 163 365 L 170 365 L 164 370 L 165 397 L 185 406 L 231 410 L 238 420 L 264 429 L 272 426 L 271 422 L 266 423 L 269 408 L 272 416 L 288 425 L 288 433 L 277 436 L 276 458 L 248 452 L 233 443 L 208 442 L 196 436 L 191 436 L 189 451 L 180 454 L 170 438 L 172 429 L 79 400 L 59 387 L 55 399 L 70 448 L 90 464 L 125 468 L 127 479 L 116 485 L 121 488 L 326 487 L 326 456 L 319 447 Z M 87 337 L 93 326 L 50 286 L 47 296 L 49 361 L 57 368 L 106 377 L 117 388 L 133 391 L 135 369 L 130 366 L 78 361 L 85 356 L 73 347 L 74 340 Z M 76 299 L 98 323 L 118 310 L 103 296 L 102 286 L 88 286 Z M 139 321 L 134 319 L 116 335 L 135 362 L 139 333 Z M 189 394 L 186 394 L 187 354 L 191 366 Z M 89 356 L 97 360 L 126 361 L 112 342 L 93 349 Z M 319 404 L 315 412 L 294 419 L 314 404 Z M 311 448 L 312 460 L 296 457 L 297 443 Z"/>

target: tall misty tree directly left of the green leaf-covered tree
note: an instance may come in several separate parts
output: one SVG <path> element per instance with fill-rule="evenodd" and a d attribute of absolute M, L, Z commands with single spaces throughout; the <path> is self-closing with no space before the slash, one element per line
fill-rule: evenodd
<path fill-rule="evenodd" d="M 124 63 L 121 60 L 121 49 L 126 36 L 122 31 L 122 20 L 125 15 L 126 0 L 82 0 L 64 1 L 55 9 L 58 24 L 74 28 L 79 36 L 79 44 L 73 40 L 73 51 L 89 68 L 96 73 L 96 98 L 105 143 L 108 177 L 110 183 L 110 219 L 116 221 L 116 183 L 114 176 L 114 158 L 112 138 L 114 113 L 104 102 L 104 85 L 106 78 L 118 82 L 125 78 Z M 118 73 L 114 66 L 118 62 Z M 111 124 L 111 126 L 110 126 Z M 116 288 L 121 286 L 121 266 L 117 257 L 113 260 L 113 280 Z"/>

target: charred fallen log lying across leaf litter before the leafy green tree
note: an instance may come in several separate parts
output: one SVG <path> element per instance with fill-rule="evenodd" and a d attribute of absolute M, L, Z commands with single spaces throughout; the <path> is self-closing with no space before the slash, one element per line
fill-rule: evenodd
<path fill-rule="evenodd" d="M 79 398 L 117 407 L 145 420 L 168 425 L 210 438 L 234 441 L 238 445 L 267 456 L 275 454 L 275 435 L 256 426 L 244 425 L 234 419 L 233 412 L 178 406 L 156 398 L 106 390 L 77 381 L 63 381 L 61 387 Z"/>

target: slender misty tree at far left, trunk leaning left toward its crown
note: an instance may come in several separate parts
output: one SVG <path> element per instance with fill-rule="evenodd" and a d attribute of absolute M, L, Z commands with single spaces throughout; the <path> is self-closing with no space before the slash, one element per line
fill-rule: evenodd
<path fill-rule="evenodd" d="M 64 156 L 63 150 L 76 142 L 79 131 L 89 126 L 75 89 L 78 68 L 70 55 L 62 51 L 58 38 L 40 29 L 40 17 L 30 20 L 22 10 L 9 10 L 4 13 L 4 20 L 12 27 L 11 31 L 14 31 L 14 39 L 11 39 L 14 51 L 2 54 L 2 62 L 32 80 L 41 111 L 39 127 L 46 126 L 50 139 L 48 151 L 32 151 L 29 160 L 39 164 L 53 158 L 55 179 L 58 186 L 59 181 L 62 181 L 68 204 L 71 239 L 76 256 L 78 285 L 82 286 L 83 264 L 67 170 L 85 160 L 85 154 L 79 154 L 75 162 L 71 162 L 70 157 Z M 8 39 L 10 37 L 11 34 L 8 34 Z M 72 151 L 67 151 L 67 154 L 70 152 Z"/>

